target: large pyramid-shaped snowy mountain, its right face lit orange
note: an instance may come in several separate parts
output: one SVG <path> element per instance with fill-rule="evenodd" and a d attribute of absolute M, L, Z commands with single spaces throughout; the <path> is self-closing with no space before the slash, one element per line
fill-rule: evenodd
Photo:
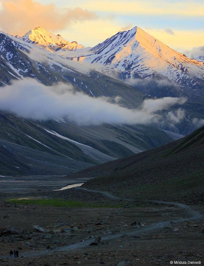
<path fill-rule="evenodd" d="M 86 54 L 72 57 L 72 60 L 89 62 L 95 67 L 117 72 L 123 81 L 167 78 L 184 89 L 200 88 L 204 75 L 203 62 L 171 49 L 139 27 L 119 31 Z"/>

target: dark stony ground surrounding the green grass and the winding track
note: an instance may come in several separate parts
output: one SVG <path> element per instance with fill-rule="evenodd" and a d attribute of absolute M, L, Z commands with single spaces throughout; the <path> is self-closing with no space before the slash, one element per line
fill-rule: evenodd
<path fill-rule="evenodd" d="M 113 205 L 110 208 L 71 208 L 10 204 L 0 195 L 0 265 L 170 265 L 171 260 L 204 263 L 204 219 L 169 224 L 157 231 L 137 233 L 138 228 L 186 217 L 185 211 L 174 206 L 144 205 L 107 199 L 86 191 L 67 190 L 23 192 L 21 197 L 62 198 Z M 142 204 L 142 205 L 141 205 Z M 128 207 L 127 207 L 128 205 Z M 133 206 L 134 205 L 134 206 Z M 124 206 L 126 206 L 124 208 Z M 194 206 L 200 213 L 204 207 Z M 39 227 L 34 227 L 34 226 Z M 135 230 L 135 234 L 126 233 Z M 100 237 L 124 233 L 122 237 L 100 241 Z M 93 239 L 95 245 L 83 249 L 57 252 L 58 247 Z M 10 249 L 19 250 L 17 260 L 9 259 Z M 45 251 L 48 253 L 38 254 Z M 36 256 L 32 256 L 35 254 Z"/>

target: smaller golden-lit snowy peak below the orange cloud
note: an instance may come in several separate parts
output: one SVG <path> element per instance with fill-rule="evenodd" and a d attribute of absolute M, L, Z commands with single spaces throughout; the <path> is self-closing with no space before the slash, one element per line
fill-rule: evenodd
<path fill-rule="evenodd" d="M 62 38 L 61 35 L 55 35 L 42 27 L 37 27 L 28 31 L 23 37 L 23 41 L 33 43 L 38 46 L 43 46 L 46 50 L 55 51 L 58 49 L 76 50 L 84 46 L 78 44 L 76 41 L 69 42 Z"/>

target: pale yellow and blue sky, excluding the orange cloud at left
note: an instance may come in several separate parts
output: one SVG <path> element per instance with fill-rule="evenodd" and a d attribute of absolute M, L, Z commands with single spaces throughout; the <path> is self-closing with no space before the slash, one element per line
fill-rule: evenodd
<path fill-rule="evenodd" d="M 50 0 L 40 0 L 40 2 L 44 4 L 51 3 Z M 116 2 L 112 0 L 109 2 L 112 5 L 107 5 L 101 0 L 54 1 L 53 3 L 60 8 L 82 7 L 99 15 L 97 22 L 85 22 L 87 27 L 85 25 L 82 27 L 84 34 L 80 29 L 77 32 L 77 29 L 80 28 L 78 23 L 70 25 L 61 33 L 68 39 L 75 38 L 84 45 L 93 46 L 121 29 L 125 30 L 138 26 L 151 35 L 156 35 L 157 39 L 170 47 L 182 52 L 191 49 L 193 46 L 204 45 L 203 0 L 118 0 Z M 120 4 L 119 7 L 118 4 Z M 129 9 L 126 8 L 128 6 Z M 107 29 L 106 34 L 102 27 Z M 171 29 L 174 35 L 168 36 L 167 29 Z M 99 36 L 97 33 L 94 37 L 90 31 L 94 33 L 96 30 L 100 31 L 101 34 Z"/>

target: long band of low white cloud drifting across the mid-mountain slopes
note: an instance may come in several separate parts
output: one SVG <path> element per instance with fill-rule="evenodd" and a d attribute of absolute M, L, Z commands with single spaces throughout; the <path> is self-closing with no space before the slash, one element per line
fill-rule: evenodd
<path fill-rule="evenodd" d="M 157 123 L 163 119 L 158 111 L 185 102 L 184 98 L 172 97 L 147 99 L 140 109 L 127 109 L 117 103 L 119 100 L 116 97 L 111 103 L 108 98 L 74 93 L 71 85 L 58 83 L 48 87 L 31 78 L 0 88 L 3 111 L 34 120 L 66 117 L 80 125 Z"/>

